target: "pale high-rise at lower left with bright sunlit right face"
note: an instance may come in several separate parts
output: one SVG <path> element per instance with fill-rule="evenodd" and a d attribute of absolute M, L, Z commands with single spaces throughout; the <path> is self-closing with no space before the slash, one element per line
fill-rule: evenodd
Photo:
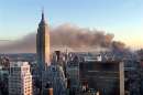
<path fill-rule="evenodd" d="M 10 64 L 9 95 L 33 95 L 32 75 L 28 62 Z"/>

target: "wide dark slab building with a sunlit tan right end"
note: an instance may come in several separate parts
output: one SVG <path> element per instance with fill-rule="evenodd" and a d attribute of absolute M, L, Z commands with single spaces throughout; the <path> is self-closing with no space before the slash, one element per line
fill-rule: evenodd
<path fill-rule="evenodd" d="M 79 80 L 84 92 L 95 88 L 99 95 L 124 95 L 122 62 L 81 62 Z"/>

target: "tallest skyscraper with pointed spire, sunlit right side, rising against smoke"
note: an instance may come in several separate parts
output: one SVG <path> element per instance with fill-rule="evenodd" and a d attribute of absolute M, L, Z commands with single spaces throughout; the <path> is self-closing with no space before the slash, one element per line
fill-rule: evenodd
<path fill-rule="evenodd" d="M 36 53 L 40 72 L 44 71 L 50 63 L 50 28 L 45 22 L 44 12 L 38 24 L 36 34 Z"/>

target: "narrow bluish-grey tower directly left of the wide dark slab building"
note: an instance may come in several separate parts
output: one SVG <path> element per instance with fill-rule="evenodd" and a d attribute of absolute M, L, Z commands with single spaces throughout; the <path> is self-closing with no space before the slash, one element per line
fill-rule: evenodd
<path fill-rule="evenodd" d="M 69 95 L 76 95 L 79 92 L 79 59 L 74 56 L 73 61 L 67 62 L 66 65 L 67 85 Z"/>

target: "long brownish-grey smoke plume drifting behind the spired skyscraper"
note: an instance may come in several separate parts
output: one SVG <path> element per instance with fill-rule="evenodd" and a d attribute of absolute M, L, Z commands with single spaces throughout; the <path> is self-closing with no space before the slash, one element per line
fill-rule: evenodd
<path fill-rule="evenodd" d="M 51 46 L 76 48 L 101 48 L 106 50 L 124 50 L 122 42 L 113 41 L 114 35 L 105 31 L 89 30 L 72 24 L 62 24 L 51 31 Z M 0 45 L 0 53 L 35 53 L 36 32 L 30 33 L 22 39 Z"/>

